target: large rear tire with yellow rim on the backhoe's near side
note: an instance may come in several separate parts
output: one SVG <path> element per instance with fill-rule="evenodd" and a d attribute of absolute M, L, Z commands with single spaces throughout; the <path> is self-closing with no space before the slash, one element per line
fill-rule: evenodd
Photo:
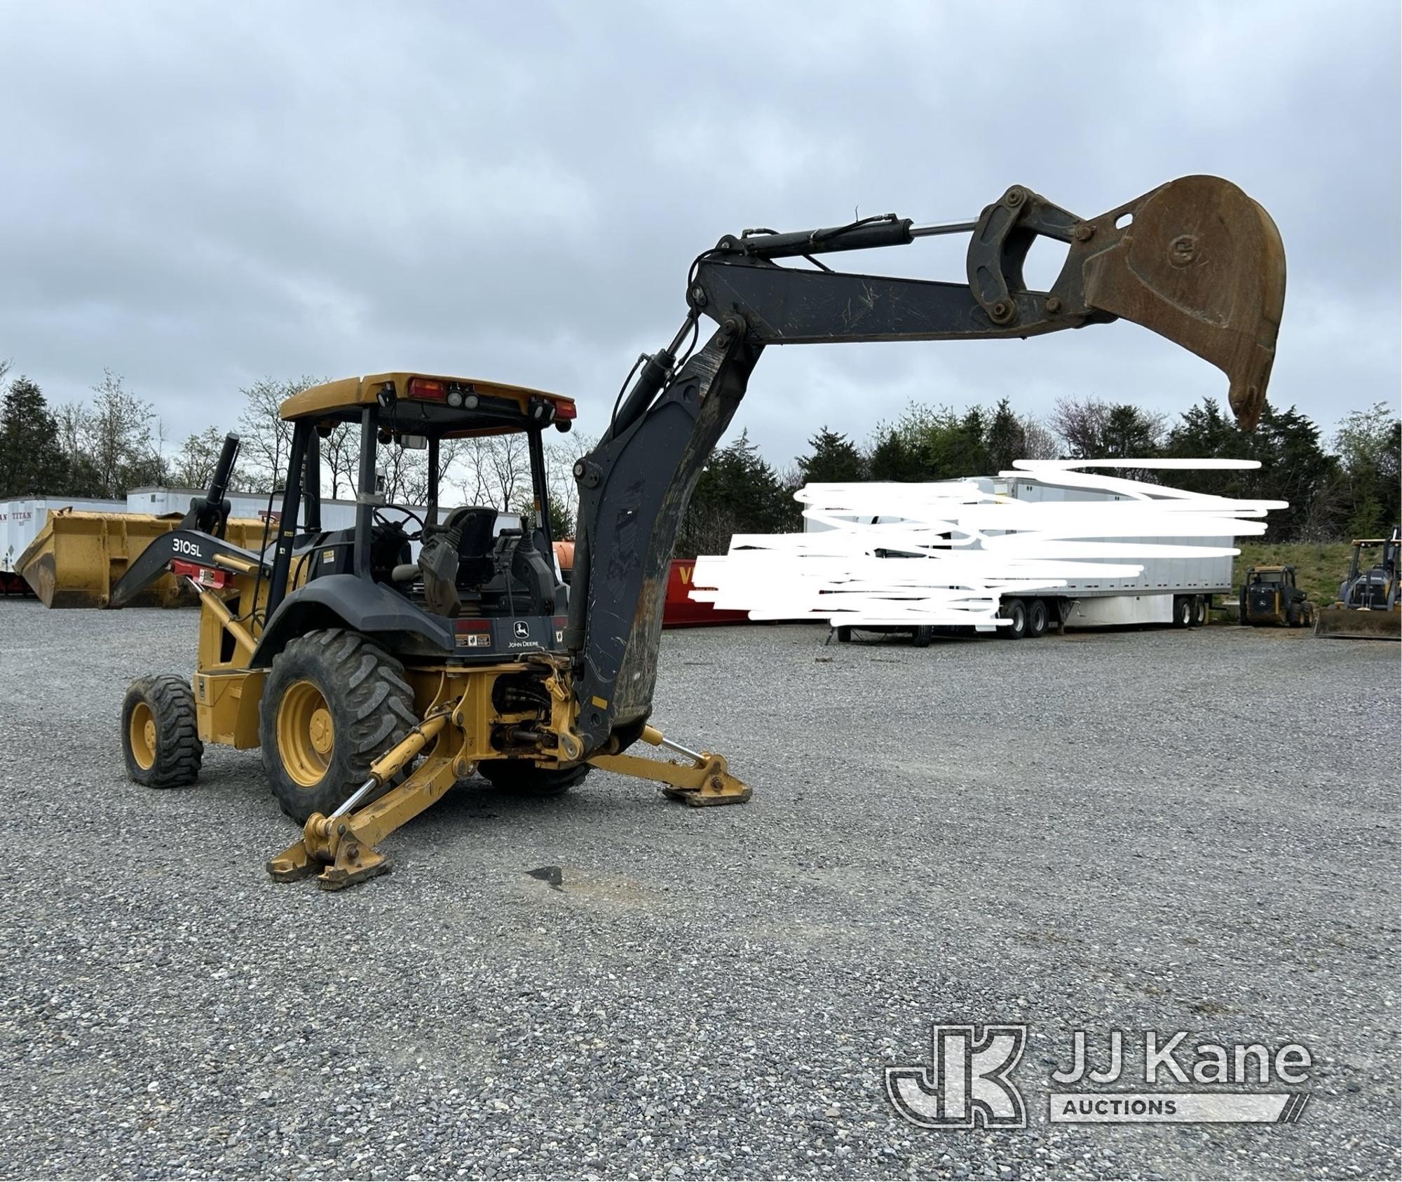
<path fill-rule="evenodd" d="M 419 721 L 404 666 L 345 628 L 307 632 L 278 653 L 258 711 L 268 784 L 299 823 L 335 812 Z"/>

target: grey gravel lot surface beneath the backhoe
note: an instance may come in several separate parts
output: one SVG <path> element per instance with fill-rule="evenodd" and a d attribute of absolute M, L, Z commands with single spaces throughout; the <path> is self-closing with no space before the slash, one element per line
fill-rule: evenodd
<path fill-rule="evenodd" d="M 1398 1176 L 1396 645 L 672 632 L 656 721 L 749 806 L 472 782 L 325 895 L 257 753 L 123 778 L 195 627 L 0 603 L 7 1176 Z M 1026 1130 L 893 1115 L 932 1019 L 1029 1025 Z M 1312 1099 L 1050 1126 L 1077 1028 L 1298 1040 Z"/>

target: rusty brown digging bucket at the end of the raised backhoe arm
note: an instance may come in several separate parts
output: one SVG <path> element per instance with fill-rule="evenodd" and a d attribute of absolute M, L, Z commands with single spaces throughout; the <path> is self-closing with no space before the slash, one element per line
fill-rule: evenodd
<path fill-rule="evenodd" d="M 1087 233 L 1089 230 L 1089 233 Z M 1286 303 L 1286 250 L 1255 201 L 1220 177 L 1180 177 L 1077 227 L 1085 301 L 1223 370 L 1237 422 L 1256 426 Z"/>

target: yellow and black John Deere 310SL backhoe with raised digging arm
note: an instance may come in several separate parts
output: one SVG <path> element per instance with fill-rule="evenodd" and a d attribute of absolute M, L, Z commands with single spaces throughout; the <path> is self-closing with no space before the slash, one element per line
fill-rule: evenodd
<path fill-rule="evenodd" d="M 967 234 L 963 282 L 845 273 L 841 251 Z M 1049 292 L 1022 264 L 1037 237 L 1067 245 Z M 812 266 L 784 265 L 806 259 Z M 597 446 L 573 467 L 572 582 L 551 562 L 541 435 L 572 400 L 442 374 L 386 373 L 289 398 L 293 425 L 276 537 L 233 545 L 217 491 L 153 543 L 112 590 L 119 607 L 167 569 L 202 603 L 193 681 L 137 680 L 122 739 L 130 777 L 174 787 L 203 743 L 258 747 L 273 794 L 303 824 L 278 879 L 341 888 L 388 868 L 376 845 L 474 771 L 548 794 L 589 768 L 644 777 L 690 805 L 750 788 L 723 757 L 649 725 L 673 545 L 691 489 L 768 345 L 1025 338 L 1136 321 L 1224 370 L 1238 422 L 1266 395 L 1284 303 L 1274 223 L 1235 185 L 1185 177 L 1082 219 L 1021 185 L 966 223 L 894 215 L 798 233 L 747 230 L 700 254 L 670 344 L 638 358 Z M 715 331 L 698 341 L 702 318 Z M 631 383 L 631 384 L 629 384 Z M 320 439 L 360 430 L 353 529 L 320 527 Z M 536 512 L 440 501 L 446 439 L 522 432 Z M 422 447 L 423 513 L 390 505 L 380 449 Z M 230 440 L 219 480 L 227 480 Z M 415 552 L 415 547 L 418 547 Z M 673 760 L 631 749 L 642 740 Z"/>

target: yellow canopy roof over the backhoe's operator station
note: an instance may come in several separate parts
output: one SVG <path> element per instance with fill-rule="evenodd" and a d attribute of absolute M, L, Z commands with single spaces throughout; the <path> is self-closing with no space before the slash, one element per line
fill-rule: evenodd
<path fill-rule="evenodd" d="M 435 418 L 461 419 L 460 429 L 449 429 L 444 435 L 498 435 L 522 430 L 530 423 L 530 407 L 544 400 L 554 408 L 552 418 L 575 418 L 575 400 L 547 390 L 533 390 L 529 386 L 510 386 L 505 381 L 488 381 L 481 377 L 447 377 L 429 373 L 372 373 L 365 377 L 341 377 L 311 386 L 300 394 L 293 394 L 278 408 L 283 419 L 349 419 L 363 407 L 383 405 L 383 394 L 394 388 L 398 404 L 419 405 L 435 409 Z M 449 395 L 453 395 L 451 398 Z M 463 398 L 477 395 L 481 411 L 461 405 Z M 453 405 L 453 401 L 457 405 Z M 470 400 L 471 401 L 471 400 Z M 519 423 L 503 422 L 503 412 L 520 415 Z M 474 422 L 475 421 L 475 422 Z M 479 423 L 479 425 L 478 425 Z M 443 423 L 444 426 L 447 423 Z"/>

